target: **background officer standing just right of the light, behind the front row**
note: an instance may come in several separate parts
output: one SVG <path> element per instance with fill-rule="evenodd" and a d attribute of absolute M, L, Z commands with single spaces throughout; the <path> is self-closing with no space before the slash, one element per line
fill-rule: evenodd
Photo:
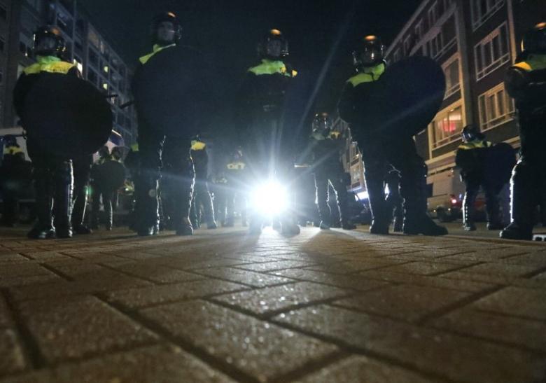
<path fill-rule="evenodd" d="M 341 218 L 342 228 L 352 230 L 356 228 L 349 220 L 349 202 L 344 179 L 346 173 L 340 160 L 344 148 L 345 137 L 341 132 L 332 130 L 333 121 L 328 113 L 317 113 L 313 120 L 311 134 L 311 153 L 313 156 L 313 171 L 316 188 L 316 202 L 318 214 L 321 217 L 319 228 L 328 230 L 334 227 L 332 211 L 328 204 L 328 186 L 332 186 L 337 195 L 337 216 Z"/>

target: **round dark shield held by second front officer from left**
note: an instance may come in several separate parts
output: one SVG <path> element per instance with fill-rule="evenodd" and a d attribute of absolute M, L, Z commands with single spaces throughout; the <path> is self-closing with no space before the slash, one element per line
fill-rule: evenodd
<path fill-rule="evenodd" d="M 135 74 L 139 120 L 158 134 L 199 134 L 214 112 L 214 75 L 197 50 L 177 46 L 156 53 Z"/>

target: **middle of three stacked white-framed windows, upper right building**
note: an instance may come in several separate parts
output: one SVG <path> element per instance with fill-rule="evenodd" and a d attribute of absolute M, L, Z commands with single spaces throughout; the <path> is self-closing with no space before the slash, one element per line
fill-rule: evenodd
<path fill-rule="evenodd" d="M 510 61 L 506 23 L 495 29 L 474 47 L 477 80 Z"/>

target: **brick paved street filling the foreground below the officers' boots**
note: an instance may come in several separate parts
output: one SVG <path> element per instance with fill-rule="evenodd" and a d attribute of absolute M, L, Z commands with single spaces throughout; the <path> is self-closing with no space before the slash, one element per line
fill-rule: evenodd
<path fill-rule="evenodd" d="M 0 383 L 545 382 L 546 244 L 0 232 Z"/>

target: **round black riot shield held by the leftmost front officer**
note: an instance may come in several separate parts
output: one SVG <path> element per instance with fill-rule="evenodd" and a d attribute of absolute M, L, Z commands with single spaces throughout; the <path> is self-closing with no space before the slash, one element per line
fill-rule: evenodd
<path fill-rule="evenodd" d="M 90 155 L 112 132 L 112 111 L 104 95 L 73 76 L 42 76 L 25 99 L 25 111 L 22 125 L 45 153 Z"/>

